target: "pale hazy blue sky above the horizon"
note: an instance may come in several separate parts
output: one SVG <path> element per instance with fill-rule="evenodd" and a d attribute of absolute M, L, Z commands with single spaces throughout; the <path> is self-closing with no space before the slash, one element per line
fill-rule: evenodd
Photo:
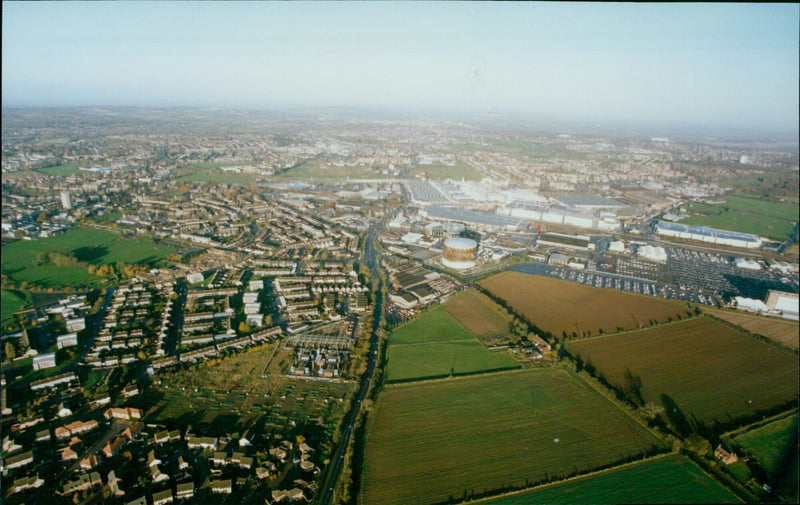
<path fill-rule="evenodd" d="M 798 129 L 798 4 L 3 2 L 3 106 Z"/>

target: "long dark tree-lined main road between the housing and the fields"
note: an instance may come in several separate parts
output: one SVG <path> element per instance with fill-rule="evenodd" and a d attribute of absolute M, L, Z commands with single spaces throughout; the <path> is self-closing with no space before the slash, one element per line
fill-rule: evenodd
<path fill-rule="evenodd" d="M 381 321 L 383 320 L 384 293 L 383 280 L 378 270 L 378 257 L 380 253 L 375 244 L 378 240 L 378 234 L 383 230 L 388 219 L 389 216 L 372 225 L 364 236 L 364 254 L 362 256 L 362 261 L 369 267 L 373 282 L 377 283 L 376 288 L 373 290 L 375 293 L 375 307 L 373 310 L 372 336 L 369 340 L 369 354 L 367 355 L 367 371 L 361 376 L 358 393 L 353 398 L 350 412 L 347 413 L 342 421 L 342 436 L 339 439 L 339 444 L 333 451 L 331 462 L 325 471 L 325 477 L 322 479 L 322 486 L 320 487 L 320 493 L 317 497 L 318 505 L 329 505 L 333 500 L 333 491 L 336 488 L 339 475 L 342 473 L 342 468 L 344 467 L 344 456 L 347 452 L 347 446 L 350 443 L 350 436 L 353 434 L 353 427 L 358 418 L 358 413 L 361 411 L 361 403 L 364 401 L 364 398 L 366 398 L 367 391 L 369 391 L 369 386 L 372 382 L 372 377 L 375 375 L 375 367 L 378 361 L 378 348 L 380 345 Z"/>

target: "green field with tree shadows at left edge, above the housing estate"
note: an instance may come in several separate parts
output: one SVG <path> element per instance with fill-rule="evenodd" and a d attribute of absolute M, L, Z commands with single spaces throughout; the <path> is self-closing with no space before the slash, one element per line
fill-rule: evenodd
<path fill-rule="evenodd" d="M 157 245 L 150 238 L 123 239 L 109 231 L 75 228 L 55 237 L 18 240 L 4 245 L 3 274 L 18 282 L 43 287 L 94 285 L 100 281 L 99 277 L 90 275 L 85 266 L 38 264 L 40 258 L 50 252 L 72 254 L 78 261 L 93 265 L 121 261 L 161 267 L 167 265 L 165 258 L 175 250 Z"/>

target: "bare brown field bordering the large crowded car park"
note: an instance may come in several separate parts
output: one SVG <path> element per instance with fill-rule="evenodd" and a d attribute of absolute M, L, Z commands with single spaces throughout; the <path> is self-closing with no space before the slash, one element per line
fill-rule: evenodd
<path fill-rule="evenodd" d="M 677 302 L 519 272 L 501 272 L 479 284 L 557 337 L 633 330 L 690 313 Z"/>

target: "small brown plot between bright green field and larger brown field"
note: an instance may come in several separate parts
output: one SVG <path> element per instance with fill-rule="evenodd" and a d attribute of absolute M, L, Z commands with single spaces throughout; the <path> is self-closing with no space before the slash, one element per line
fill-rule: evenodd
<path fill-rule="evenodd" d="M 443 307 L 482 342 L 495 341 L 508 334 L 508 324 L 512 320 L 508 312 L 473 289 L 456 294 Z"/>

